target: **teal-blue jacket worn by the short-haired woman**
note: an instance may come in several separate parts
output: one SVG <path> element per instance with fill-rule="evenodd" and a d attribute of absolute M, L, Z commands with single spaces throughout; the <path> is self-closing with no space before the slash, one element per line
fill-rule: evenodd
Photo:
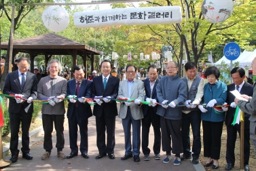
<path fill-rule="evenodd" d="M 221 81 L 217 81 L 215 84 L 206 83 L 204 85 L 204 97 L 202 101 L 204 104 L 207 104 L 209 101 L 215 99 L 217 104 L 222 105 L 227 99 L 227 85 Z M 204 121 L 224 121 L 225 112 L 221 114 L 215 113 L 213 107 L 207 107 L 207 112 L 201 114 L 201 119 Z"/>

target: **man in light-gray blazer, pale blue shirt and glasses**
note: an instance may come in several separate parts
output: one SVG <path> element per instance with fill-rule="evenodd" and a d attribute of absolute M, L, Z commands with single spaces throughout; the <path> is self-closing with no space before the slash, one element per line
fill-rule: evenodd
<path fill-rule="evenodd" d="M 129 64 L 126 67 L 126 78 L 120 82 L 117 98 L 135 99 L 134 102 L 122 102 L 120 105 L 119 117 L 122 118 L 125 139 L 125 155 L 121 158 L 126 160 L 133 156 L 135 162 L 139 162 L 139 154 L 141 147 L 141 119 L 143 119 L 143 111 L 141 108 L 141 100 L 145 98 L 144 83 L 135 79 L 136 67 Z M 130 137 L 130 126 L 132 124 L 132 143 Z"/>

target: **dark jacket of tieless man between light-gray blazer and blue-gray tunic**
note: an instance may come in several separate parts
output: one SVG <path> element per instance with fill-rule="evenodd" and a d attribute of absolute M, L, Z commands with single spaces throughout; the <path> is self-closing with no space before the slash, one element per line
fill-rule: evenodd
<path fill-rule="evenodd" d="M 144 87 L 145 87 L 145 101 L 147 98 L 150 98 L 150 95 L 151 95 L 151 90 L 150 90 L 150 84 L 149 84 L 149 78 L 147 79 L 143 79 L 142 80 L 143 83 L 144 83 Z M 152 90 L 152 96 L 151 98 L 152 99 L 156 99 L 156 101 L 158 102 L 158 97 L 156 96 L 156 86 L 158 85 L 159 83 L 159 79 L 156 79 L 156 83 L 155 85 L 153 86 L 153 90 Z M 144 115 L 147 115 L 147 110 L 152 110 L 156 113 L 156 111 L 158 110 L 158 105 L 156 105 L 156 107 L 149 107 L 149 105 L 142 105 L 142 109 L 143 109 L 143 114 Z"/>

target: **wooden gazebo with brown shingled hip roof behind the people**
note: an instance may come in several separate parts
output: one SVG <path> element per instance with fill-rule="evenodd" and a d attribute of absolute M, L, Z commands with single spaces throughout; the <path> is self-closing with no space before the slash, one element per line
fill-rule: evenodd
<path fill-rule="evenodd" d="M 1 49 L 7 50 L 8 42 L 1 43 Z M 18 39 L 13 41 L 12 64 L 14 57 L 19 52 L 27 53 L 31 59 L 31 71 L 34 69 L 34 59 L 37 55 L 45 56 L 45 67 L 52 55 L 71 55 L 73 58 L 73 67 L 77 65 L 77 55 L 84 60 L 84 67 L 87 68 L 87 58 L 90 58 L 92 71 L 94 70 L 94 55 L 99 55 L 100 51 L 90 48 L 87 45 L 67 39 L 60 35 L 50 33 L 47 35 L 39 35 L 26 39 Z M 87 70 L 87 69 L 86 69 Z"/>

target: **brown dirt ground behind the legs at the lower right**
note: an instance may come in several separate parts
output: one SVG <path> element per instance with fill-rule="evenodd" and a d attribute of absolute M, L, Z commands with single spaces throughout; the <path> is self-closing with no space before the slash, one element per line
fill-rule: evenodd
<path fill-rule="evenodd" d="M 191 140 L 193 140 L 193 136 L 191 136 Z M 201 142 L 203 142 L 202 141 L 202 126 L 201 126 Z M 227 147 L 227 129 L 226 129 L 226 126 L 224 123 L 223 132 L 222 132 L 222 136 L 221 136 L 221 156 L 219 159 L 219 168 L 217 170 L 225 170 L 225 166 L 227 164 L 226 160 L 225 160 L 226 147 Z M 250 153 L 250 159 L 249 159 L 249 167 L 250 167 L 250 170 L 256 170 L 256 153 L 255 153 L 255 149 L 254 149 L 252 140 L 251 140 L 251 148 L 250 149 L 251 149 L 251 153 Z M 239 138 L 239 135 L 237 135 L 237 139 L 236 139 L 235 158 L 236 158 L 236 162 L 235 162 L 235 166 L 232 170 L 240 170 L 240 138 Z M 207 158 L 204 157 L 203 143 L 202 143 L 202 150 L 201 150 L 199 159 L 200 159 L 202 166 L 204 166 L 204 163 L 206 162 Z M 205 170 L 209 171 L 209 170 L 214 170 L 214 169 L 210 166 L 208 168 L 205 168 Z"/>

